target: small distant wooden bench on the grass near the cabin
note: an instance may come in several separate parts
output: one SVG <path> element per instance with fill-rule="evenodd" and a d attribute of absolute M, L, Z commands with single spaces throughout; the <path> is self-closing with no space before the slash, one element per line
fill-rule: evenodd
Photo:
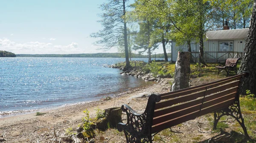
<path fill-rule="evenodd" d="M 225 70 L 227 72 L 227 76 L 230 73 L 230 71 L 234 71 L 237 74 L 236 65 L 239 58 L 227 58 L 224 63 L 220 63 L 219 66 L 216 66 L 218 68 L 218 74 L 221 70 Z"/>

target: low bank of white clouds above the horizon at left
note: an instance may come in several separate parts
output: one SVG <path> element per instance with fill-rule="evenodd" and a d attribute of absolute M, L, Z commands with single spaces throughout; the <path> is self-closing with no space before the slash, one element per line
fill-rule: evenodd
<path fill-rule="evenodd" d="M 10 39 L 0 39 L 0 50 L 7 50 L 16 54 L 69 54 L 85 53 L 84 49 L 78 48 L 78 43 L 71 42 L 69 45 L 54 45 L 44 42 L 16 43 Z"/>

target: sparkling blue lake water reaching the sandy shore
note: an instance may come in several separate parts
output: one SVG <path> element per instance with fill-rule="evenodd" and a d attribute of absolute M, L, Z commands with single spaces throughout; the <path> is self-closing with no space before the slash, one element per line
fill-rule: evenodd
<path fill-rule="evenodd" d="M 151 84 L 122 76 L 119 69 L 104 67 L 124 61 L 124 58 L 0 58 L 0 118 L 96 101 Z"/>

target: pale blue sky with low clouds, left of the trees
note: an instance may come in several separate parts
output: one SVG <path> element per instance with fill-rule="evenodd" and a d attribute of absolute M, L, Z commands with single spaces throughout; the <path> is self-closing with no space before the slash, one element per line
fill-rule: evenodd
<path fill-rule="evenodd" d="M 0 0 L 0 50 L 16 54 L 117 52 L 96 50 L 90 34 L 102 29 L 107 0 Z M 163 53 L 160 49 L 155 51 Z"/>

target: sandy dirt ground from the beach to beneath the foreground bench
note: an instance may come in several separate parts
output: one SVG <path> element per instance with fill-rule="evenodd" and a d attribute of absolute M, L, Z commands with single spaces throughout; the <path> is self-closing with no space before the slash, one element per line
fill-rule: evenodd
<path fill-rule="evenodd" d="M 191 81 L 193 86 L 201 84 L 199 81 Z M 166 87 L 163 89 L 163 87 Z M 108 101 L 94 101 L 85 104 L 61 107 L 46 111 L 46 114 L 35 116 L 35 113 L 17 115 L 7 118 L 0 118 L 0 139 L 3 143 L 66 143 L 64 140 L 68 128 L 75 130 L 82 123 L 84 110 L 90 111 L 90 117 L 95 117 L 96 108 L 107 109 L 110 107 L 121 107 L 122 104 L 129 104 L 135 111 L 144 112 L 147 103 L 146 97 L 131 98 L 136 95 L 148 95 L 150 93 L 166 93 L 169 91 L 169 84 L 153 84 L 142 89 L 134 89 L 125 93 L 120 93 Z M 122 115 L 125 118 L 125 115 Z M 202 116 L 172 129 L 155 135 L 155 143 L 233 143 L 227 138 L 243 133 L 230 133 L 234 120 L 228 118 L 225 123 L 230 124 L 225 131 L 212 132 L 211 121 L 207 120 L 211 115 Z M 95 143 L 125 143 L 123 132 L 116 129 L 108 129 L 105 132 L 96 130 Z M 79 140 L 76 140 L 77 143 Z M 1 142 L 1 141 L 0 141 Z M 81 141 L 83 143 L 85 141 Z M 242 142 L 241 142 L 242 143 Z"/>

